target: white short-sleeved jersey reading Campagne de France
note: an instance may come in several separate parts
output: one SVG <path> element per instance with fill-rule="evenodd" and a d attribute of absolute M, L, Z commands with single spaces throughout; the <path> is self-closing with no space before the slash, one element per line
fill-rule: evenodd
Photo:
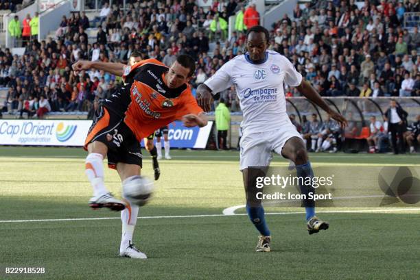
<path fill-rule="evenodd" d="M 205 84 L 213 94 L 235 86 L 244 115 L 241 127 L 253 133 L 278 129 L 289 120 L 283 82 L 299 86 L 301 81 L 302 75 L 285 56 L 266 51 L 261 64 L 253 64 L 247 53 L 233 58 Z"/>

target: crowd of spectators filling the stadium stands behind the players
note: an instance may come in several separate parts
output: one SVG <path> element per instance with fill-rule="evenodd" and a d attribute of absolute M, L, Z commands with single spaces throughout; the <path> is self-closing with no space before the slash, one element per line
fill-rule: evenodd
<path fill-rule="evenodd" d="M 71 64 L 126 63 L 133 51 L 167 65 L 178 54 L 193 56 L 197 70 L 191 86 L 196 88 L 246 52 L 246 29 L 257 25 L 260 15 L 255 5 L 245 5 L 213 1 L 205 10 L 194 0 L 137 1 L 128 3 L 126 12 L 119 3 L 105 3 L 93 21 L 84 12 L 63 16 L 56 38 L 38 42 L 32 37 L 23 42 L 25 54 L 20 57 L 9 49 L 0 51 L 0 86 L 9 88 L 3 111 L 42 118 L 51 111 L 94 110 L 93 104 L 112 94 L 121 79 L 103 71 L 75 76 Z M 404 29 L 405 12 L 419 12 L 419 2 L 373 0 L 360 8 L 354 0 L 312 1 L 304 8 L 298 4 L 293 15 L 285 14 L 272 25 L 269 49 L 288 57 L 325 97 L 418 97 L 420 35 L 417 26 L 411 33 Z M 233 14 L 235 31 L 229 39 Z M 24 19 L 23 29 L 30 20 Z M 89 27 L 98 29 L 92 44 Z M 209 42 L 215 42 L 211 53 Z M 293 88 L 285 92 L 287 97 L 299 95 Z M 234 88 L 220 97 L 231 111 L 240 110 Z"/>

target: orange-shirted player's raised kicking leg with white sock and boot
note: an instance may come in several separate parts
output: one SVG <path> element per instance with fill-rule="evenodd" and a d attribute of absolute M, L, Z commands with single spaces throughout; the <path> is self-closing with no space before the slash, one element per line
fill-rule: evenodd
<path fill-rule="evenodd" d="M 93 197 L 89 200 L 89 206 L 93 209 L 102 207 L 114 211 L 121 211 L 125 205 L 119 199 L 108 192 L 104 183 L 104 158 L 108 147 L 102 142 L 94 141 L 87 146 L 89 155 L 85 160 L 85 173 L 93 187 Z"/>

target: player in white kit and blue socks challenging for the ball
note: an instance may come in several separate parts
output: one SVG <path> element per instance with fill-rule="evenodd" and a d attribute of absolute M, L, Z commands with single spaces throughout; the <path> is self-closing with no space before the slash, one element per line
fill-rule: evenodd
<path fill-rule="evenodd" d="M 248 173 L 248 167 L 269 166 L 274 151 L 294 162 L 298 177 L 314 176 L 305 144 L 286 113 L 283 81 L 289 86 L 296 87 L 303 96 L 337 120 L 341 127 L 347 125 L 347 120 L 331 110 L 287 58 L 275 51 L 267 50 L 268 39 L 268 30 L 264 27 L 257 25 L 248 29 L 246 34 L 248 51 L 226 62 L 215 75 L 197 89 L 198 104 L 205 111 L 209 111 L 212 94 L 235 86 L 244 115 L 241 124 L 243 136 L 240 141 L 240 170 L 247 192 L 246 210 L 251 222 L 261 234 L 256 251 L 264 252 L 270 251 L 270 231 L 266 225 L 261 201 L 255 205 L 248 195 L 248 191 L 255 188 L 249 186 L 255 184 L 255 179 L 251 178 L 255 175 Z M 305 194 L 314 191 L 313 188 L 300 187 L 301 192 Z M 307 230 L 310 234 L 328 229 L 329 224 L 315 216 L 313 200 L 306 199 L 303 205 Z"/>

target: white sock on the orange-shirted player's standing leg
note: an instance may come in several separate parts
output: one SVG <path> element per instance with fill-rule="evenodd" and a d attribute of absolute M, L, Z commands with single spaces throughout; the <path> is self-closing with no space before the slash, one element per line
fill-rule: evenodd
<path fill-rule="evenodd" d="M 139 214 L 139 206 L 126 202 L 126 208 L 121 211 L 121 223 L 122 223 L 122 233 L 121 233 L 121 244 L 119 246 L 119 251 L 123 252 L 127 249 L 132 243 L 132 235 L 135 230 L 137 223 L 137 215 Z"/>

